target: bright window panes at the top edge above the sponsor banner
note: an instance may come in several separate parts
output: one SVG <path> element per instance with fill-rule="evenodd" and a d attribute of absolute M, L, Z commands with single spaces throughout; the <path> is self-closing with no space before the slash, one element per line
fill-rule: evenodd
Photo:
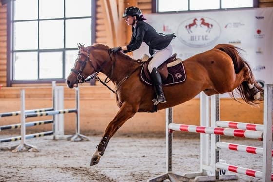
<path fill-rule="evenodd" d="M 156 1 L 158 6 L 153 9 L 156 9 L 156 12 L 159 13 L 257 7 L 258 3 L 258 0 L 155 0 L 155 2 Z M 153 5 L 155 5 L 155 3 Z"/>

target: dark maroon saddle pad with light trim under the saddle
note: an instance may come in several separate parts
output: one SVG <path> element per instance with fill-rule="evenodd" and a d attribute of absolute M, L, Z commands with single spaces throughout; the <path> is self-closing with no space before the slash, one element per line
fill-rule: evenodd
<path fill-rule="evenodd" d="M 181 83 L 186 80 L 186 72 L 185 72 L 183 62 L 177 64 L 176 66 L 168 67 L 167 69 L 168 69 L 168 77 L 166 80 L 163 81 L 163 84 L 162 84 L 163 86 Z M 140 78 L 144 83 L 148 85 L 153 84 L 153 82 L 146 77 L 143 70 L 143 66 L 140 71 Z"/>

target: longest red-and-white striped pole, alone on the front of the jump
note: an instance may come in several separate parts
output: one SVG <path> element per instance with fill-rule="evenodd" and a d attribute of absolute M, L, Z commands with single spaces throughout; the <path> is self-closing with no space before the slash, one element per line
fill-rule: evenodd
<path fill-rule="evenodd" d="M 187 131 L 193 133 L 207 133 L 215 135 L 225 135 L 232 137 L 244 137 L 251 139 L 262 139 L 263 132 L 261 131 L 248 131 L 230 128 L 214 128 L 214 127 L 204 127 L 204 126 L 194 126 L 186 124 L 169 124 L 169 129 L 174 131 Z"/>

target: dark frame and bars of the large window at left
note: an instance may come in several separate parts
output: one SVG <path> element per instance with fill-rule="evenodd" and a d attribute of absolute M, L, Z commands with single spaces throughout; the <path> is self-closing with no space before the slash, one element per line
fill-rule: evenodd
<path fill-rule="evenodd" d="M 40 84 L 40 83 L 51 83 L 56 81 L 56 83 L 65 83 L 66 79 L 38 79 L 38 80 L 13 80 L 13 1 L 11 0 L 7 3 L 7 87 L 11 87 L 13 84 Z M 77 19 L 79 17 L 75 17 Z M 74 19 L 74 18 L 69 18 Z M 51 19 L 42 19 L 51 20 Z M 57 19 L 55 19 L 57 20 Z M 58 19 L 59 20 L 59 19 Z M 60 18 L 60 20 L 66 20 L 66 17 Z M 39 21 L 39 20 L 38 20 Z M 38 30 L 39 31 L 39 30 Z M 64 30 L 65 31 L 65 30 Z M 96 40 L 96 0 L 91 0 L 91 44 L 95 43 Z M 66 34 L 64 32 L 64 41 Z M 39 38 L 38 38 L 39 39 Z M 60 51 L 65 53 L 69 50 L 78 50 L 78 48 L 60 48 L 60 49 L 37 49 L 37 53 L 41 52 L 56 52 Z M 29 50 L 28 50 L 29 51 Z M 27 52 L 26 50 L 16 51 L 16 52 Z M 75 58 L 76 59 L 76 58 Z M 63 62 L 65 62 L 65 55 L 63 55 Z M 65 65 L 63 65 L 63 75 L 65 75 Z M 27 71 L 27 69 L 26 69 Z M 39 70 L 38 70 L 39 72 Z M 90 82 L 94 85 L 94 81 Z"/>

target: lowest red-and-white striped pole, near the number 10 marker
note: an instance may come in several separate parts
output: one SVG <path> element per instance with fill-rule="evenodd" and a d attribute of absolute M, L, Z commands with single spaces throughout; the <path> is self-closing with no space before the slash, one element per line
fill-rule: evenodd
<path fill-rule="evenodd" d="M 239 174 L 244 174 L 247 176 L 253 176 L 256 178 L 263 178 L 263 173 L 260 171 L 255 171 L 252 169 L 247 169 L 247 168 L 243 168 L 243 167 L 238 167 L 238 166 L 234 166 L 234 165 L 229 165 L 229 164 L 225 164 L 225 163 L 220 163 L 217 162 L 216 163 L 216 167 L 218 169 L 224 169 L 224 170 L 228 170 L 234 173 L 239 173 Z M 273 174 L 271 174 L 271 181 L 273 181 Z"/>

